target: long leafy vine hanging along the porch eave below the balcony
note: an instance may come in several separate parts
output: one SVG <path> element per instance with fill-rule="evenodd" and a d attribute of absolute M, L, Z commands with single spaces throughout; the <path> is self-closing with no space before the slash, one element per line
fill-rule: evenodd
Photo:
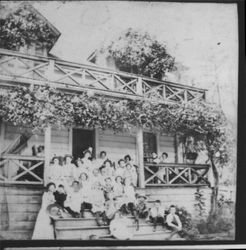
<path fill-rule="evenodd" d="M 30 86 L 10 89 L 0 100 L 0 115 L 15 125 L 43 129 L 98 127 L 114 131 L 141 126 L 183 138 L 193 135 L 206 142 L 211 156 L 221 164 L 228 160 L 226 119 L 223 112 L 206 102 L 170 104 L 141 100 L 119 100 L 88 92 L 68 94 L 51 87 Z M 218 153 L 219 152 L 219 153 Z"/>

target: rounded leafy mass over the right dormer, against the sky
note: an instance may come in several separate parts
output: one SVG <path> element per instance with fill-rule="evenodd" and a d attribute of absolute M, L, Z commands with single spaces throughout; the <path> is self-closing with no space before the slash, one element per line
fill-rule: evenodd
<path fill-rule="evenodd" d="M 102 51 L 107 51 L 122 71 L 161 79 L 174 68 L 174 58 L 167 53 L 163 44 L 147 32 L 141 33 L 132 28 L 102 48 Z"/>

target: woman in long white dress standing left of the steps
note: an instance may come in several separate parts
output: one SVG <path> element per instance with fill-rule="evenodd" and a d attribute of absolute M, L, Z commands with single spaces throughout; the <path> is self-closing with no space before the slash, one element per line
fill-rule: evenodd
<path fill-rule="evenodd" d="M 36 224 L 33 230 L 32 239 L 54 239 L 54 228 L 51 218 L 49 217 L 46 209 L 50 204 L 55 203 L 54 192 L 56 185 L 53 182 L 48 183 L 46 191 L 42 197 L 42 204 L 39 210 Z"/>

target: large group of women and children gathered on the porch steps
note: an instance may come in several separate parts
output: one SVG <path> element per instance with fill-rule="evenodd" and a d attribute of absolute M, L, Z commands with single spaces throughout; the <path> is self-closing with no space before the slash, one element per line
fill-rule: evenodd
<path fill-rule="evenodd" d="M 92 160 L 92 148 L 89 148 L 75 163 L 72 160 L 72 156 L 66 155 L 61 165 L 59 157 L 54 157 L 47 171 L 49 183 L 43 194 L 33 239 L 54 237 L 52 219 L 47 213 L 50 205 L 59 208 L 61 217 L 83 218 L 85 211 L 89 210 L 95 215 L 98 226 L 110 225 L 117 215 L 131 215 L 137 230 L 140 218 L 151 221 L 153 231 L 157 223 L 163 226 L 167 223 L 175 232 L 181 230 L 175 207 L 171 207 L 168 213 L 157 200 L 149 209 L 147 197 L 135 192 L 137 168 L 129 155 L 114 166 L 105 151 L 100 152 L 99 159 Z"/>

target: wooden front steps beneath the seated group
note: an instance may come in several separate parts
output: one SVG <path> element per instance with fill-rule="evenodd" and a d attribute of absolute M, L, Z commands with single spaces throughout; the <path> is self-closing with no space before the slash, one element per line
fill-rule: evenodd
<path fill-rule="evenodd" d="M 170 236 L 171 231 L 157 225 L 156 231 L 153 232 L 153 224 L 140 220 L 139 230 L 136 230 L 136 224 L 133 217 L 128 217 L 132 224 L 129 230 L 132 231 L 131 240 L 165 240 Z M 114 240 L 110 234 L 109 226 L 98 226 L 96 219 L 89 212 L 85 213 L 85 218 L 66 218 L 55 220 L 55 234 L 58 240 Z M 92 238 L 91 238 L 92 237 Z M 179 236 L 174 236 L 174 240 L 183 240 Z"/>

